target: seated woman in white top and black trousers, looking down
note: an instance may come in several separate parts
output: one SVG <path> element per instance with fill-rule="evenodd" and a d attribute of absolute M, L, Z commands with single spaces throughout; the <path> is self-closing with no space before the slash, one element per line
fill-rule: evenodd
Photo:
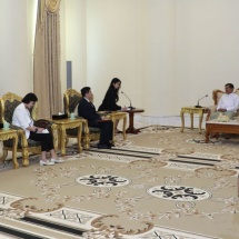
<path fill-rule="evenodd" d="M 41 159 L 40 166 L 52 166 L 54 162 L 63 162 L 59 159 L 53 147 L 53 138 L 49 132 L 44 132 L 43 128 L 33 126 L 33 119 L 30 114 L 30 109 L 38 101 L 38 98 L 34 93 L 28 93 L 20 103 L 12 117 L 12 125 L 22 128 L 26 132 L 27 139 L 32 139 L 36 141 L 41 141 Z M 47 159 L 47 151 L 50 151 L 51 159 Z"/>

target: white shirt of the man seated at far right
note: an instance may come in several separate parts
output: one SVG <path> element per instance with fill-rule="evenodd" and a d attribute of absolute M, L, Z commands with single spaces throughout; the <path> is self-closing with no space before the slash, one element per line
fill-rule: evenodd
<path fill-rule="evenodd" d="M 219 100 L 218 109 L 227 109 L 227 111 L 236 111 L 239 108 L 239 96 L 237 93 L 225 93 Z"/>

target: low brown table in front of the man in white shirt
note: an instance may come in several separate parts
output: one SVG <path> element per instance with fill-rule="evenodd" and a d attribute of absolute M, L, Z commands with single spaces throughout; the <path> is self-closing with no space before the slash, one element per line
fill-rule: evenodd
<path fill-rule="evenodd" d="M 206 142 L 209 142 L 209 136 L 212 132 L 239 133 L 239 122 L 237 120 L 230 120 L 228 122 L 218 122 L 217 120 L 209 120 L 206 122 Z"/>

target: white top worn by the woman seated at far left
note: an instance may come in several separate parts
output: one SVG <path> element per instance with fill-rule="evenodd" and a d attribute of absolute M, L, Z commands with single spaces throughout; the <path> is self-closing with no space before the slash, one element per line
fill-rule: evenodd
<path fill-rule="evenodd" d="M 27 128 L 33 126 L 33 120 L 31 119 L 30 111 L 24 107 L 24 103 L 20 103 L 13 112 L 12 125 L 21 127 L 24 132 L 27 139 L 30 136 L 30 130 Z"/>

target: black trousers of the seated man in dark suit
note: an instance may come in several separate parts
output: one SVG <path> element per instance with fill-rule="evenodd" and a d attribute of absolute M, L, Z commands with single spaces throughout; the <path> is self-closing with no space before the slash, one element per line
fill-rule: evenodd
<path fill-rule="evenodd" d="M 100 145 L 106 145 L 112 140 L 113 122 L 112 121 L 88 121 L 89 127 L 100 128 Z"/>

